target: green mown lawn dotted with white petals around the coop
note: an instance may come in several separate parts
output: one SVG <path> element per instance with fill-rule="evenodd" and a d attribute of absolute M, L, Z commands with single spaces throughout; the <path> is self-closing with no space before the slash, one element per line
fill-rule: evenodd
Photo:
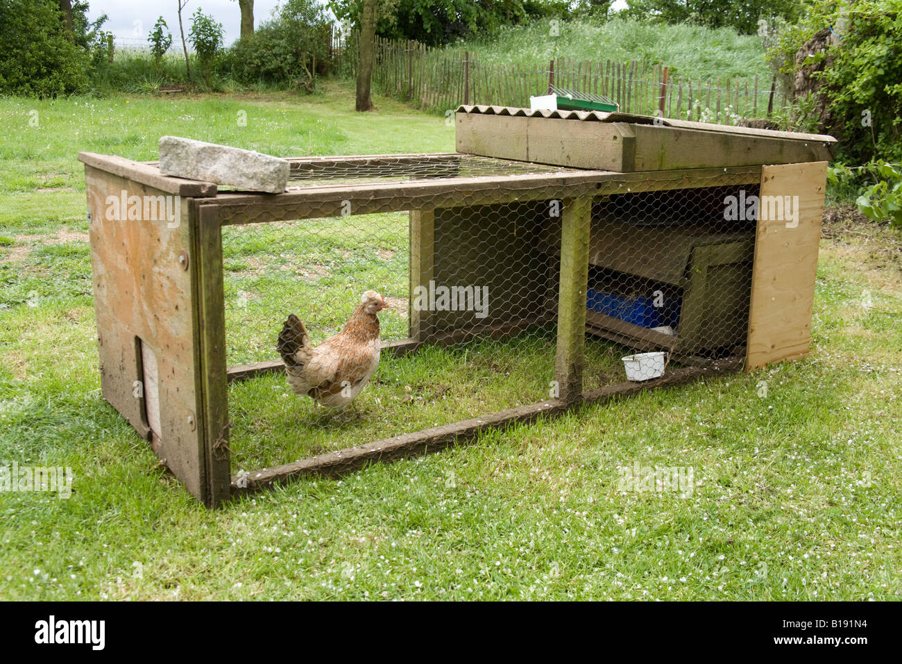
<path fill-rule="evenodd" d="M 378 112 L 355 114 L 351 99 L 338 83 L 302 98 L 0 99 L 0 465 L 70 466 L 75 476 L 69 500 L 0 492 L 0 598 L 902 594 L 902 237 L 847 210 L 831 210 L 825 224 L 806 360 L 583 407 L 222 510 L 191 498 L 100 396 L 76 154 L 152 159 L 162 134 L 282 155 L 453 150 L 443 117 L 382 98 Z M 39 126 L 29 126 L 32 110 Z M 242 110 L 247 126 L 236 122 Z M 271 297 L 297 275 L 278 262 L 258 269 L 252 242 L 226 234 L 232 361 L 272 357 L 271 333 L 242 316 L 304 306 Z M 330 260 L 317 257 L 315 276 L 338 287 L 328 282 L 339 275 Z M 386 259 L 386 283 L 404 260 Z M 398 325 L 386 331 L 400 333 Z M 525 343 L 514 354 L 548 362 L 541 344 Z M 379 388 L 398 401 L 408 394 L 401 379 L 420 376 L 395 424 L 455 416 L 435 388 L 459 379 L 450 369 L 466 366 L 474 380 L 496 381 L 484 393 L 502 391 L 497 367 L 480 365 L 489 356 L 506 361 L 486 349 L 466 360 L 424 353 L 413 365 L 384 362 Z M 232 387 L 235 463 L 295 452 L 281 445 L 311 411 L 274 397 L 281 387 L 273 378 Z M 381 426 L 365 419 L 380 406 L 364 404 L 348 440 Z M 619 469 L 636 463 L 691 468 L 693 484 L 621 491 Z"/>

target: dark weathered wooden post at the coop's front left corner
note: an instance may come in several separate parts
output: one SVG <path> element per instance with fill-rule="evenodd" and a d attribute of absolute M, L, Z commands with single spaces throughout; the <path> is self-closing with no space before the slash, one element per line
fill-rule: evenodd
<path fill-rule="evenodd" d="M 226 298 L 223 285 L 222 228 L 216 205 L 198 206 L 197 257 L 200 299 L 200 386 L 207 475 L 207 504 L 220 505 L 231 491 L 226 377 Z"/>

